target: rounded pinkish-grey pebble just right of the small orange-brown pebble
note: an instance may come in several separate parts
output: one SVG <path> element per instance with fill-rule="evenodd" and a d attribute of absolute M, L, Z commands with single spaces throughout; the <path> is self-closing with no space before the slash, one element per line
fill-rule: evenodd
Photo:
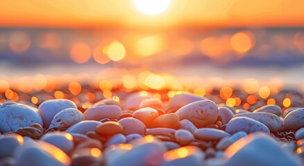
<path fill-rule="evenodd" d="M 139 133 L 141 135 L 144 135 L 144 133 L 146 133 L 146 126 L 142 121 L 137 120 L 136 118 L 124 118 L 118 122 L 124 129 L 124 135 L 128 135 L 130 133 Z"/>

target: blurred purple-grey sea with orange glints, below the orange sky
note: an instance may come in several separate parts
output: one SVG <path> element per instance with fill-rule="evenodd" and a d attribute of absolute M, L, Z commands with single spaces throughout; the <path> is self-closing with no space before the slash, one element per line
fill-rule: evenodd
<path fill-rule="evenodd" d="M 223 82 L 248 77 L 264 82 L 279 78 L 289 86 L 302 88 L 303 34 L 304 28 L 301 27 L 214 30 L 1 28 L 0 75 L 96 75 L 108 67 L 144 68 L 179 76 L 217 77 Z M 237 35 L 240 38 L 233 41 Z M 162 44 L 155 45 L 155 40 L 147 42 L 148 47 L 144 50 L 152 49 L 151 56 L 143 56 L 136 51 L 136 44 L 144 37 L 159 37 L 156 42 Z M 97 46 L 105 48 L 112 41 L 123 44 L 126 57 L 119 62 L 109 59 L 104 64 L 98 63 L 92 57 L 94 50 Z M 182 42 L 176 44 L 176 41 Z M 81 64 L 71 58 L 71 49 L 79 42 L 90 49 L 88 60 Z M 156 48 L 158 46 L 159 49 Z M 240 53 L 246 46 L 248 49 Z M 101 56 L 106 55 L 101 53 Z"/>

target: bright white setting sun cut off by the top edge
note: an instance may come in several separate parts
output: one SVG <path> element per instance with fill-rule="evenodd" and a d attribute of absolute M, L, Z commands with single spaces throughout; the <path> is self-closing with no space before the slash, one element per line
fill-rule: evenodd
<path fill-rule="evenodd" d="M 136 8 L 146 15 L 158 15 L 169 7 L 171 0 L 133 0 Z"/>

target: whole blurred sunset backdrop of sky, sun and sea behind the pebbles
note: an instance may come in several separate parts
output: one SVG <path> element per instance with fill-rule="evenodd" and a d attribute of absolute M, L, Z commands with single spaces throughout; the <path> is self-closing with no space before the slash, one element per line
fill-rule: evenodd
<path fill-rule="evenodd" d="M 53 90 L 52 82 L 65 81 L 102 91 L 107 81 L 111 89 L 119 82 L 129 90 L 140 84 L 207 91 L 246 81 L 269 92 L 304 90 L 304 1 L 0 4 L 3 93 Z"/>

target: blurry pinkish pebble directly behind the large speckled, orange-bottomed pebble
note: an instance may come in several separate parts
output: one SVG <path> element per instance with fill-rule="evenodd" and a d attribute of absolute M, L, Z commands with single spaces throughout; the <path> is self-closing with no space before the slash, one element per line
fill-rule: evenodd
<path fill-rule="evenodd" d="M 200 100 L 204 100 L 204 98 L 201 98 L 197 95 L 182 93 L 178 95 L 174 95 L 173 98 L 169 100 L 168 106 L 167 106 L 167 113 L 174 113 L 181 107 L 190 104 L 192 102 L 197 102 Z"/>

